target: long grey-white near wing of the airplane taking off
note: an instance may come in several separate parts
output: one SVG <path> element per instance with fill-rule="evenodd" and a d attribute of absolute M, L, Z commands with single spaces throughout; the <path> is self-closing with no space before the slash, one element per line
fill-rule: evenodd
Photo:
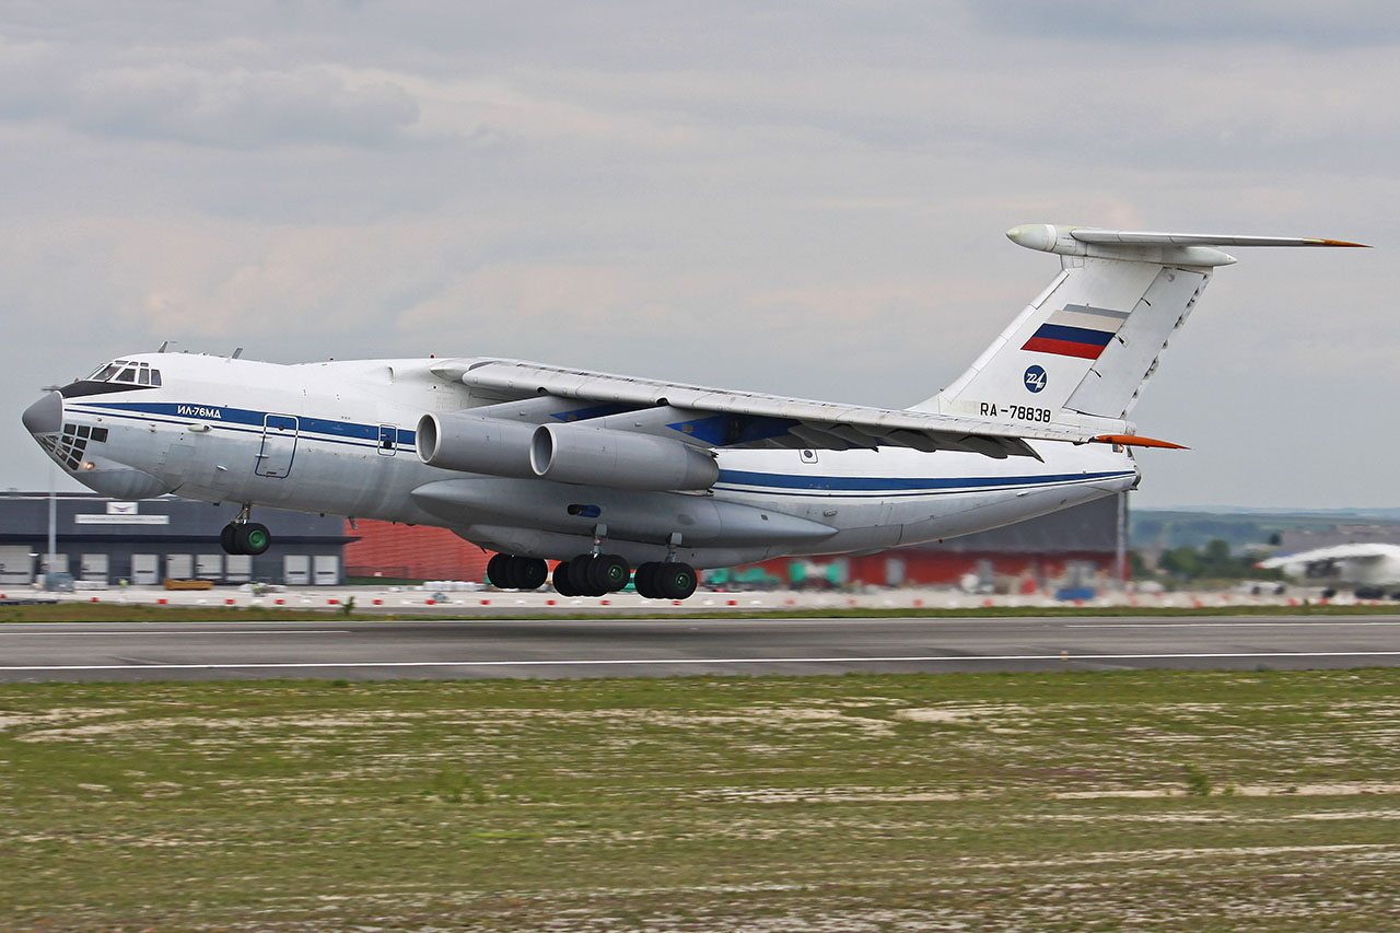
<path fill-rule="evenodd" d="M 937 412 L 686 385 L 522 360 L 444 360 L 433 371 L 466 384 L 473 394 L 500 402 L 554 396 L 616 406 L 615 410 L 662 409 L 665 413 L 659 419 L 624 419 L 623 424 L 608 426 L 679 436 L 706 447 L 911 447 L 921 451 L 972 451 L 1000 459 L 1039 458 L 1028 440 L 1110 440 L 1102 424 L 1099 430 L 1049 423 L 1019 426 Z M 1121 422 L 1114 426 L 1121 426 Z M 1114 434 L 1112 440 L 1128 438 Z"/>

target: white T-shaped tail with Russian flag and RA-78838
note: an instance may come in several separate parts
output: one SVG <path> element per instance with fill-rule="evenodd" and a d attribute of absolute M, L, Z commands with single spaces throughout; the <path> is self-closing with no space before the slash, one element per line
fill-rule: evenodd
<path fill-rule="evenodd" d="M 1060 275 L 966 373 L 914 409 L 1008 420 L 1032 410 L 1032 420 L 1079 424 L 1126 419 L 1215 266 L 1235 262 L 1215 247 L 1362 245 L 1050 224 L 1007 235 L 1058 254 Z"/>

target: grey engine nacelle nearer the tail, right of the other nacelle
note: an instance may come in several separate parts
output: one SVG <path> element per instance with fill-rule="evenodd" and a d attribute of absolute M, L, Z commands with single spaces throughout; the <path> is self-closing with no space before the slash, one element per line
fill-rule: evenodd
<path fill-rule="evenodd" d="M 708 489 L 720 478 L 714 457 L 680 441 L 581 424 L 536 427 L 529 464 L 540 479 L 638 492 Z"/>

